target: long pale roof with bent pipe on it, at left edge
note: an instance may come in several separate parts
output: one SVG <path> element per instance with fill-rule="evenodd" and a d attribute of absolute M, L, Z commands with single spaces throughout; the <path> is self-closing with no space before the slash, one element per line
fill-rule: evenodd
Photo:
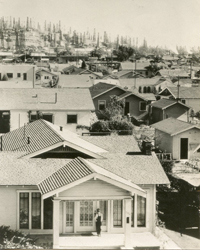
<path fill-rule="evenodd" d="M 0 89 L 1 110 L 94 110 L 89 89 Z"/>

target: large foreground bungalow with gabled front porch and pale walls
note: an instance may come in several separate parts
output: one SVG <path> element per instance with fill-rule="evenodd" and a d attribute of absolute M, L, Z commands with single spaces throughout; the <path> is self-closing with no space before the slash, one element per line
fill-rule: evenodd
<path fill-rule="evenodd" d="M 87 248 L 100 208 L 101 246 L 159 248 L 152 235 L 156 185 L 169 180 L 154 152 L 141 153 L 133 136 L 81 138 L 37 120 L 3 135 L 1 151 L 2 224 L 53 234 L 53 248 Z M 115 241 L 105 241 L 104 232 Z"/>

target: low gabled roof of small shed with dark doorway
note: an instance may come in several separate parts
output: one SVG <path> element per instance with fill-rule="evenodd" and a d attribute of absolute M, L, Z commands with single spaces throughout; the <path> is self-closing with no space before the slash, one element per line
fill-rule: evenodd
<path fill-rule="evenodd" d="M 192 128 L 197 128 L 200 130 L 200 127 L 191 123 L 187 123 L 184 121 L 180 121 L 175 118 L 168 118 L 165 120 L 162 120 L 160 122 L 154 123 L 151 125 L 151 127 L 160 130 L 162 132 L 165 132 L 171 136 L 180 134 L 184 131 L 190 130 Z"/>

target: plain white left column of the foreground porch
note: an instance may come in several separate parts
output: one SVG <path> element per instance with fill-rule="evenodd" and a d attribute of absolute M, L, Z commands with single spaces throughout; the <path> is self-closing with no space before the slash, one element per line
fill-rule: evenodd
<path fill-rule="evenodd" d="M 53 200 L 53 248 L 59 248 L 60 200 Z"/>

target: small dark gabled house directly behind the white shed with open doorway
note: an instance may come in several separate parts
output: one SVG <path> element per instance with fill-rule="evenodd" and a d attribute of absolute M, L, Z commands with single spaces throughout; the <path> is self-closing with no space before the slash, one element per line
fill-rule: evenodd
<path fill-rule="evenodd" d="M 160 99 L 150 104 L 150 122 L 156 123 L 173 117 L 179 120 L 189 121 L 190 107 L 173 99 Z"/>

